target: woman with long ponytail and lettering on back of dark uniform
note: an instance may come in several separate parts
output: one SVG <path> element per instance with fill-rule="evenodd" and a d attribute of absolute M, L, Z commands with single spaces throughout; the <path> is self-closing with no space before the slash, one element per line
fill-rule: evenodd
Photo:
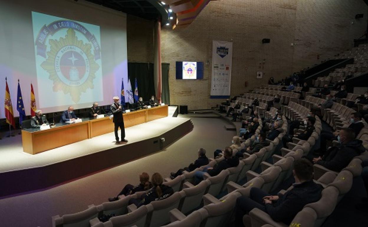
<path fill-rule="evenodd" d="M 161 174 L 154 173 L 152 175 L 153 187 L 146 194 L 143 194 L 140 199 L 130 199 L 129 204 L 135 204 L 137 208 L 143 205 L 147 205 L 152 201 L 158 201 L 169 198 L 174 194 L 174 190 L 167 185 L 163 185 L 163 178 Z"/>

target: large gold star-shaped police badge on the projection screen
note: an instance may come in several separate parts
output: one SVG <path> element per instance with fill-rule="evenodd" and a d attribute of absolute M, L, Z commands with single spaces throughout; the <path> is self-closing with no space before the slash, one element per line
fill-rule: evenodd
<path fill-rule="evenodd" d="M 65 38 L 50 39 L 49 45 L 50 50 L 41 67 L 54 82 L 53 91 L 69 93 L 73 102 L 78 103 L 82 92 L 93 89 L 95 72 L 99 70 L 92 54 L 92 45 L 78 40 L 71 28 Z"/>

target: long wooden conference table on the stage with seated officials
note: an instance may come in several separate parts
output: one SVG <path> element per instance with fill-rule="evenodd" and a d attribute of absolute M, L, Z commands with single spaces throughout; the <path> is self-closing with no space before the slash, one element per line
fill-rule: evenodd
<path fill-rule="evenodd" d="M 167 105 L 131 111 L 123 114 L 124 126 L 131 127 L 168 115 Z M 54 128 L 47 130 L 28 128 L 22 130 L 23 151 L 35 155 L 113 131 L 114 123 L 110 117 L 82 118 L 82 122 L 79 123 L 56 123 Z"/>

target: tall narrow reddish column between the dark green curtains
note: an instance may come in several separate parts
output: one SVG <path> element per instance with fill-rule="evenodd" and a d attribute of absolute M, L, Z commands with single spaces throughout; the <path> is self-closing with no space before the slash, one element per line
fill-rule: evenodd
<path fill-rule="evenodd" d="M 161 22 L 155 23 L 155 92 L 158 103 L 161 103 L 162 94 L 162 71 L 161 71 Z"/>

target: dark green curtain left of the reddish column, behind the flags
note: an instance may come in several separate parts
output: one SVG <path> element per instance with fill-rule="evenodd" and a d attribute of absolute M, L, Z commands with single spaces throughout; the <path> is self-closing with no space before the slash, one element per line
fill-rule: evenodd
<path fill-rule="evenodd" d="M 153 63 L 129 63 L 128 78 L 132 85 L 132 91 L 135 88 L 135 78 L 137 78 L 138 95 L 144 101 L 151 99 L 155 95 L 155 82 L 153 76 Z M 127 86 L 124 84 L 124 86 Z"/>

